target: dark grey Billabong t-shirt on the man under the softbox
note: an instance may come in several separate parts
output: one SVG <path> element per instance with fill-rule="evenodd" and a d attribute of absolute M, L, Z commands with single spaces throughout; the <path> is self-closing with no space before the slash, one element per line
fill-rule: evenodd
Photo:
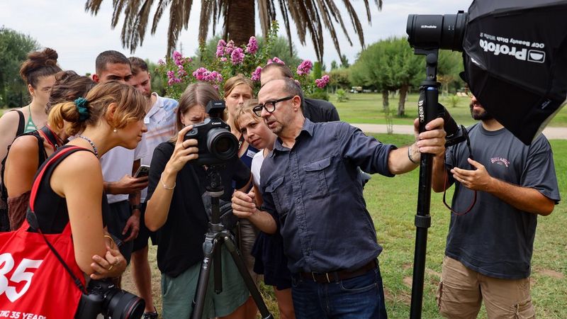
<path fill-rule="evenodd" d="M 485 130 L 481 123 L 469 128 L 473 159 L 490 176 L 510 184 L 537 189 L 556 203 L 560 200 L 551 147 L 541 135 L 524 145 L 505 128 Z M 465 143 L 449 147 L 447 169 L 471 169 Z M 451 174 L 449 173 L 451 177 Z M 452 177 L 451 183 L 454 182 Z M 466 211 L 473 191 L 456 182 L 453 210 Z M 537 226 L 537 215 L 520 211 L 484 191 L 477 191 L 476 204 L 462 216 L 451 214 L 445 254 L 486 276 L 501 279 L 527 278 Z"/>

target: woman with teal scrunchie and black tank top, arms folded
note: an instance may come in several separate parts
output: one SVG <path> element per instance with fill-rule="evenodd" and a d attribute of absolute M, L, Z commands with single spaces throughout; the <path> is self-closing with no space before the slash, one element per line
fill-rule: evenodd
<path fill-rule="evenodd" d="M 75 261 L 92 279 L 119 276 L 126 267 L 125 259 L 105 240 L 102 216 L 108 203 L 99 158 L 116 146 L 136 147 L 146 131 L 146 103 L 132 86 L 106 82 L 96 85 L 86 98 L 59 103 L 50 111 L 50 121 L 66 122 L 64 134 L 80 133 L 51 157 L 69 146 L 81 148 L 47 168 L 37 188 L 35 211 L 28 213 L 27 220 L 45 234 L 62 233 L 69 223 Z"/>

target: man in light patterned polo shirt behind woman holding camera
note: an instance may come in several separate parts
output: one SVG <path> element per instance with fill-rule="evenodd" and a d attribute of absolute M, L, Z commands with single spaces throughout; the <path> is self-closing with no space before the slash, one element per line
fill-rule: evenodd
<path fill-rule="evenodd" d="M 146 156 L 142 157 L 141 164 L 150 165 L 155 147 L 162 142 L 166 142 L 175 135 L 175 110 L 177 101 L 164 98 L 152 93 L 152 76 L 147 69 L 147 63 L 139 57 L 129 57 L 132 65 L 132 78 L 130 84 L 146 96 L 150 103 L 146 107 L 144 123 L 147 127 L 145 135 Z M 151 167 L 150 167 L 151 169 Z M 157 311 L 152 298 L 152 272 L 150 263 L 147 261 L 147 240 L 152 238 L 155 241 L 155 233 L 147 229 L 144 222 L 145 200 L 147 189 L 142 189 L 141 203 L 142 214 L 140 216 L 140 233 L 134 240 L 132 253 L 132 276 L 136 284 L 140 297 L 146 301 L 144 319 L 157 319 Z"/>

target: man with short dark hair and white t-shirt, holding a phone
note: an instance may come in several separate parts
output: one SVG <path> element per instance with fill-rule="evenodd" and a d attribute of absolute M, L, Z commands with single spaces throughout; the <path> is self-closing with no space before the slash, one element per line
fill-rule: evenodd
<path fill-rule="evenodd" d="M 108 50 L 96 57 L 97 83 L 118 81 L 127 84 L 132 77 L 130 61 L 122 53 Z M 116 132 L 120 128 L 115 129 Z M 123 243 L 120 253 L 130 263 L 133 240 L 140 228 L 140 191 L 147 187 L 147 177 L 133 177 L 140 167 L 140 159 L 145 156 L 145 138 L 135 150 L 114 147 L 101 157 L 104 178 L 104 191 L 111 208 L 108 220 L 108 233 L 115 235 Z"/>

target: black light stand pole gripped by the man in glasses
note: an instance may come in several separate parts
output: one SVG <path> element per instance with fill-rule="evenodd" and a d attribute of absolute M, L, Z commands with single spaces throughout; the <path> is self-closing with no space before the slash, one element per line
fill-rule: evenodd
<path fill-rule="evenodd" d="M 420 86 L 420 103 L 417 105 L 420 119 L 420 133 L 425 131 L 425 125 L 437 118 L 439 99 L 439 82 L 437 82 L 438 49 L 415 49 L 416 55 L 425 55 L 427 77 Z M 415 215 L 415 252 L 413 259 L 412 300 L 410 318 L 421 318 L 423 281 L 425 279 L 425 254 L 427 252 L 427 228 L 431 225 L 431 181 L 433 157 L 431 154 L 421 154 L 420 184 L 417 193 L 417 214 Z"/>

